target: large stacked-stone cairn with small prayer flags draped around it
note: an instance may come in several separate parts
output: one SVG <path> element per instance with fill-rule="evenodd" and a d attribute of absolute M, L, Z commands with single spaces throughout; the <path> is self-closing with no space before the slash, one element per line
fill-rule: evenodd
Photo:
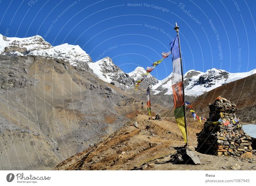
<path fill-rule="evenodd" d="M 241 128 L 236 118 L 236 104 L 223 97 L 209 104 L 209 117 L 197 133 L 197 151 L 218 156 L 252 156 L 252 138 Z"/>

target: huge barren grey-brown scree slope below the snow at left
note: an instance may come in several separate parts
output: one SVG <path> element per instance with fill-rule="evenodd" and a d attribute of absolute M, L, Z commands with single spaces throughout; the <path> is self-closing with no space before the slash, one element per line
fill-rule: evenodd
<path fill-rule="evenodd" d="M 138 98 L 98 79 L 87 64 L 22 55 L 0 55 L 0 63 L 3 170 L 52 169 L 140 110 Z"/>

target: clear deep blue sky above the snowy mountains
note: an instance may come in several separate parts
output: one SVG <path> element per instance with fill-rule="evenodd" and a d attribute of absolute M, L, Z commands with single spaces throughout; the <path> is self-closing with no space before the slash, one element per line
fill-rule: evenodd
<path fill-rule="evenodd" d="M 80 45 L 93 61 L 109 56 L 129 73 L 169 51 L 177 22 L 185 72 L 247 72 L 256 68 L 255 7 L 242 0 L 0 0 L 0 33 Z M 171 72 L 166 58 L 151 74 L 161 80 Z"/>

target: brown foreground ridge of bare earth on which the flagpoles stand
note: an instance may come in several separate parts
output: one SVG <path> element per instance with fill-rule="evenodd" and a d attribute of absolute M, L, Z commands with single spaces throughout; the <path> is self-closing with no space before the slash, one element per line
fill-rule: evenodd
<path fill-rule="evenodd" d="M 133 125 L 135 121 L 137 128 Z M 202 125 L 189 121 L 189 144 L 196 147 L 196 133 Z M 95 146 L 64 160 L 55 170 L 132 170 L 135 167 L 142 167 L 142 170 L 224 170 L 236 164 L 248 170 L 252 166 L 248 163 L 250 159 L 201 153 L 197 153 L 201 165 L 171 163 L 171 155 L 183 145 L 176 123 L 165 118 L 148 120 L 147 116 L 139 115 Z"/>

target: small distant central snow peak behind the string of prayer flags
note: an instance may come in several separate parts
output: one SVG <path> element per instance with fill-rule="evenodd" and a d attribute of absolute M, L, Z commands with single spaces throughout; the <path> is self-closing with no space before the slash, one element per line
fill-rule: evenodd
<path fill-rule="evenodd" d="M 138 66 L 135 68 L 134 71 L 128 73 L 128 75 L 136 82 L 137 80 L 142 78 L 141 74 L 145 74 L 145 73 L 146 73 L 146 70 L 143 67 Z M 148 87 L 148 84 L 153 86 L 157 83 L 158 83 L 158 80 L 151 74 L 148 74 L 145 77 L 144 81 L 142 81 L 142 83 L 140 83 L 140 87 L 146 88 L 146 87 Z"/>

